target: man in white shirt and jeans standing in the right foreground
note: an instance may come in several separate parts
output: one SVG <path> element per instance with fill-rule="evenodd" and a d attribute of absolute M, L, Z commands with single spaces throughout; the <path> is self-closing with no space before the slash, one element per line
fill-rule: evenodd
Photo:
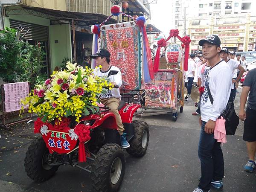
<path fill-rule="evenodd" d="M 201 161 L 201 178 L 193 192 L 209 192 L 211 186 L 222 188 L 224 159 L 221 143 L 214 139 L 217 118 L 227 106 L 230 96 L 232 73 L 225 61 L 220 58 L 221 41 L 217 35 L 209 35 L 199 41 L 204 58 L 210 69 L 205 79 L 204 93 L 201 97 L 201 125 L 198 143 L 198 156 Z M 208 90 L 209 89 L 209 90 Z M 211 93 L 213 102 L 211 102 Z"/>

